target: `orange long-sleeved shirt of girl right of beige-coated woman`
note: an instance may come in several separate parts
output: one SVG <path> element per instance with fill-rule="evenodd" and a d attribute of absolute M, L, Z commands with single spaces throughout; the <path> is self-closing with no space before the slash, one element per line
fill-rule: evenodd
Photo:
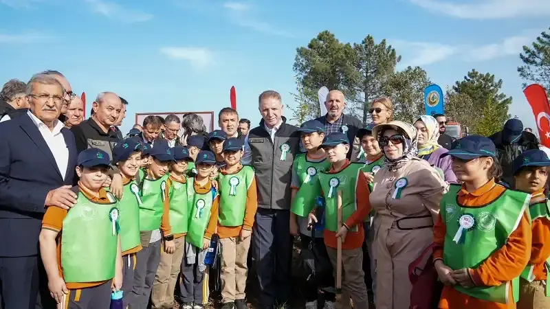
<path fill-rule="evenodd" d="M 467 192 L 463 185 L 458 193 L 458 203 L 461 207 L 483 207 L 495 201 L 506 190 L 502 185 L 494 182 L 494 179 L 485 183 L 474 192 Z M 438 245 L 434 249 L 434 260 L 443 260 L 443 244 L 447 227 L 441 219 L 441 214 L 434 225 L 434 242 Z M 506 244 L 485 260 L 478 268 L 471 269 L 470 275 L 478 286 L 498 286 L 503 282 L 509 282 L 518 277 L 529 260 L 531 252 L 531 223 L 529 212 L 525 211 L 515 231 L 510 234 Z M 516 301 L 512 296 L 511 285 L 508 291 L 509 303 L 499 304 L 482 299 L 477 299 L 460 293 L 451 286 L 445 286 L 439 301 L 440 309 L 511 309 L 516 308 Z"/>

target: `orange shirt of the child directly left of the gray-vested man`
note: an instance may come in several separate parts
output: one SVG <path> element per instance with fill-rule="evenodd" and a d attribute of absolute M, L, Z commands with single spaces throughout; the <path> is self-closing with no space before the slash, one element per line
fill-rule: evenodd
<path fill-rule="evenodd" d="M 228 175 L 229 173 L 226 172 L 226 167 L 220 168 L 219 172 L 224 175 Z M 237 168 L 236 172 L 233 172 L 231 174 L 236 174 L 240 172 L 243 169 L 243 165 L 239 164 L 239 168 Z M 219 205 L 218 211 L 215 213 L 212 212 L 211 220 L 216 220 L 218 222 L 219 219 L 219 209 L 223 207 L 232 207 L 232 205 Z M 231 237 L 237 237 L 241 234 L 242 229 L 252 230 L 252 225 L 254 225 L 254 216 L 256 215 L 256 209 L 258 209 L 258 192 L 256 190 L 256 178 L 252 179 L 252 183 L 250 183 L 250 186 L 248 187 L 248 190 L 246 192 L 246 204 L 245 204 L 245 218 L 243 221 L 243 225 L 239 225 L 238 227 L 223 227 L 222 225 L 219 225 L 219 222 L 217 223 L 217 234 L 219 238 L 231 238 Z M 214 231 L 210 231 L 211 233 L 214 233 Z"/>

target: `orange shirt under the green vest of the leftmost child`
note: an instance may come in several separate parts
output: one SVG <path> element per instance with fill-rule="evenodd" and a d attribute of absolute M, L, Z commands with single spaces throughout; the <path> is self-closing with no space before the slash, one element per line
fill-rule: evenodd
<path fill-rule="evenodd" d="M 94 196 L 94 194 L 87 187 L 84 187 L 80 181 L 78 182 L 78 188 L 80 193 L 84 194 L 90 201 L 99 204 L 109 204 L 109 198 L 107 198 L 107 192 L 101 188 L 99 190 L 99 197 Z M 63 220 L 67 216 L 67 210 L 59 207 L 47 207 L 46 213 L 42 220 L 42 228 L 50 229 L 51 231 L 56 231 L 57 233 L 61 232 L 63 229 Z M 98 248 L 100 249 L 100 248 Z M 63 277 L 63 266 L 61 265 L 61 233 L 58 234 L 57 239 L 57 266 L 59 268 L 59 275 Z M 83 261 L 83 267 L 86 267 L 86 261 Z M 69 290 L 76 290 L 79 288 L 90 288 L 92 286 L 99 286 L 104 284 L 109 280 L 100 281 L 100 282 L 82 282 L 82 283 L 69 283 L 66 282 L 65 285 Z"/>

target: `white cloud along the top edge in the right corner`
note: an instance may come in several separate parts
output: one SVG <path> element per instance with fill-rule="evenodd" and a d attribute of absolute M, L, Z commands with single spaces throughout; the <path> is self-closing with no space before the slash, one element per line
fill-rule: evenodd
<path fill-rule="evenodd" d="M 435 13 L 460 19 L 508 19 L 525 16 L 550 16 L 549 0 L 409 0 Z"/>

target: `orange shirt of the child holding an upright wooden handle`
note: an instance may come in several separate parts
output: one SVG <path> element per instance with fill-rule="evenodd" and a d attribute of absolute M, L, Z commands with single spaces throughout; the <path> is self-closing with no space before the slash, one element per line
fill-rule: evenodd
<path fill-rule="evenodd" d="M 328 174 L 336 174 L 344 168 L 347 168 L 351 162 L 346 159 L 346 163 L 340 168 L 340 170 L 335 170 L 331 165 L 331 169 Z M 367 182 L 365 175 L 363 173 L 358 174 L 359 179 L 357 181 L 357 186 L 355 187 L 355 198 L 357 199 L 357 209 L 353 211 L 353 214 L 347 218 L 346 222 L 342 222 L 347 227 L 351 228 L 357 226 L 358 231 L 349 230 L 346 235 L 346 240 L 342 242 L 342 249 L 351 250 L 360 248 L 363 244 L 365 238 L 365 232 L 363 229 L 363 220 L 371 212 L 371 202 L 369 201 L 369 189 L 367 187 Z M 315 211 L 315 209 L 314 209 Z M 338 240 L 336 239 L 336 233 L 325 229 L 323 231 L 323 237 L 325 238 L 325 244 L 327 247 L 336 249 L 338 247 Z"/>

